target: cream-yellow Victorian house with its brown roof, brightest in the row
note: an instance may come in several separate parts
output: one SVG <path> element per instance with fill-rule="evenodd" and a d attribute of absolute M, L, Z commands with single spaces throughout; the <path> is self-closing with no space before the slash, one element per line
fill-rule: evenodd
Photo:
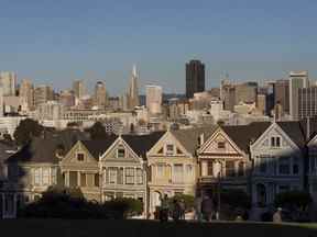
<path fill-rule="evenodd" d="M 196 149 L 215 127 L 167 131 L 147 153 L 150 213 L 160 206 L 160 196 L 195 195 Z M 201 139 L 200 139 L 201 138 Z"/>

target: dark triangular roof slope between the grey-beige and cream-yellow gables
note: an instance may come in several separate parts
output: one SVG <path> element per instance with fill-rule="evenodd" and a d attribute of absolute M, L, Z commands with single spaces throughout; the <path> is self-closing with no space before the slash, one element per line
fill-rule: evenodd
<path fill-rule="evenodd" d="M 146 153 L 158 142 L 165 132 L 154 132 L 146 135 L 122 135 L 122 139 L 132 148 L 132 150 L 143 159 L 146 159 Z"/>

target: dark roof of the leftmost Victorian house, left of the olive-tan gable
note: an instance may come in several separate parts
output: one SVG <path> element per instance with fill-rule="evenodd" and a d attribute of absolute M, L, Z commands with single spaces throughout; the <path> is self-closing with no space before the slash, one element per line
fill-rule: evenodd
<path fill-rule="evenodd" d="M 18 153 L 7 159 L 7 162 L 51 162 L 57 163 L 56 150 L 63 148 L 66 154 L 80 138 L 78 131 L 64 131 L 47 137 L 33 137 Z"/>

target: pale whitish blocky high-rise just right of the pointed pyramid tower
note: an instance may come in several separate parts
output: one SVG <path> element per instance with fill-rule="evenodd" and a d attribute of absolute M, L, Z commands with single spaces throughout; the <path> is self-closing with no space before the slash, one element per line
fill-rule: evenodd
<path fill-rule="evenodd" d="M 162 113 L 162 87 L 149 84 L 145 87 L 146 108 L 150 114 Z"/>

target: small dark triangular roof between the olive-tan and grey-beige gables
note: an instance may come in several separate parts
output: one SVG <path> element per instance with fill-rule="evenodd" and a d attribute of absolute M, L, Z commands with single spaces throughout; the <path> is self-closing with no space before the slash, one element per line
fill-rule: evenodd
<path fill-rule="evenodd" d="M 117 138 L 117 135 L 110 135 L 107 139 L 81 140 L 81 143 L 94 158 L 98 160 L 99 156 L 102 155 Z"/>

